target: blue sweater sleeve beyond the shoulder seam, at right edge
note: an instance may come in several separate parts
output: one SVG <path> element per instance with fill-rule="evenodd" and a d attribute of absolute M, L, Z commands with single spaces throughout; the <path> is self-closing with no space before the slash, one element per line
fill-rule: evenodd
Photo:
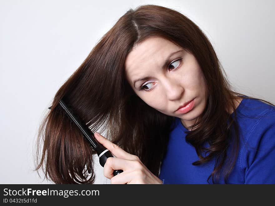
<path fill-rule="evenodd" d="M 254 127 L 247 141 L 245 184 L 275 184 L 275 111 L 264 115 Z"/>

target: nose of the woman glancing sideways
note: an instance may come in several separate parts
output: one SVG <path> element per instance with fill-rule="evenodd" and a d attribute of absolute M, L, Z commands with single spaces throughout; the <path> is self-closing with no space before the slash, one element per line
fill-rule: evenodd
<path fill-rule="evenodd" d="M 175 79 L 167 79 L 164 84 L 167 98 L 170 101 L 182 99 L 184 88 Z"/>

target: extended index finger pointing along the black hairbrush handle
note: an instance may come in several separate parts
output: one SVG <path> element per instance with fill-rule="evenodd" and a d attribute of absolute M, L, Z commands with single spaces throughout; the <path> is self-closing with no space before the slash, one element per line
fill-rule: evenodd
<path fill-rule="evenodd" d="M 106 147 L 106 149 L 110 150 L 110 152 L 116 157 L 119 157 L 122 159 L 129 159 L 129 160 L 135 159 L 135 156 L 133 154 L 129 154 L 128 152 L 124 151 L 118 145 L 106 139 L 105 137 L 100 135 L 98 132 L 95 132 L 94 136 L 100 144 Z"/>

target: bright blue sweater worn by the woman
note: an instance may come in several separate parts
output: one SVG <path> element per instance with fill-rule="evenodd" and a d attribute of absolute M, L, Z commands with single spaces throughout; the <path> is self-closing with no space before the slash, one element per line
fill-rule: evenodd
<path fill-rule="evenodd" d="M 236 110 L 241 136 L 238 157 L 227 183 L 275 184 L 275 107 L 259 100 L 242 99 Z M 215 159 L 192 165 L 199 158 L 185 140 L 187 131 L 176 118 L 160 168 L 163 184 L 208 184 Z M 212 184 L 211 178 L 209 182 Z M 224 183 L 220 178 L 218 184 Z"/>

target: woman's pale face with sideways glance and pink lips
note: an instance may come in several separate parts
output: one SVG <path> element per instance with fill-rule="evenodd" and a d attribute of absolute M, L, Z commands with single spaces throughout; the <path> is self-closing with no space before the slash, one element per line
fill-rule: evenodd
<path fill-rule="evenodd" d="M 185 127 L 194 124 L 206 106 L 205 81 L 195 57 L 164 38 L 149 37 L 134 47 L 126 58 L 125 72 L 146 104 L 179 117 Z M 193 99 L 191 107 L 177 111 Z"/>

